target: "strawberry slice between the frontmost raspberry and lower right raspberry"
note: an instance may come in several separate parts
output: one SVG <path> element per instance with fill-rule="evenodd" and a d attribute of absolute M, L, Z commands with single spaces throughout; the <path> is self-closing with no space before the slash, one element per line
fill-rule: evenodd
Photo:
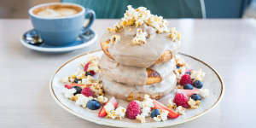
<path fill-rule="evenodd" d="M 153 101 L 153 103 L 154 103 L 154 108 L 153 109 L 155 109 L 155 108 L 157 108 L 157 109 L 164 109 L 164 110 L 166 110 L 166 111 L 168 111 L 169 113 L 168 113 L 168 118 L 170 118 L 170 119 L 176 119 L 178 116 L 179 116 L 179 114 L 178 113 L 176 113 L 175 111 L 173 111 L 172 109 L 170 109 L 170 108 L 167 108 L 165 105 L 163 105 L 162 103 L 160 103 L 160 102 L 157 102 L 157 101 Z"/>

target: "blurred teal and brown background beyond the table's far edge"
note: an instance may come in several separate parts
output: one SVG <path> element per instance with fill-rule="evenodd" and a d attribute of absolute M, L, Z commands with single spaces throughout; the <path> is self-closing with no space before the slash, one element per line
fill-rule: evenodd
<path fill-rule="evenodd" d="M 97 18 L 120 18 L 128 4 L 164 18 L 256 18 L 256 0 L 1 0 L 0 18 L 25 19 L 29 8 L 50 2 L 79 3 Z"/>

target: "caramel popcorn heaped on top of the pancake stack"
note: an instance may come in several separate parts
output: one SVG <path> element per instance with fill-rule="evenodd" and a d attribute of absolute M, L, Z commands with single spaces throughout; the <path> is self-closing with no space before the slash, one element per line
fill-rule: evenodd
<path fill-rule="evenodd" d="M 157 33 L 170 32 L 169 38 L 173 42 L 180 40 L 180 33 L 176 31 L 175 28 L 169 30 L 167 20 L 164 20 L 162 16 L 152 15 L 147 8 L 139 7 L 133 9 L 131 5 L 127 6 L 124 17 L 117 22 L 113 28 L 108 27 L 108 32 L 119 32 L 119 30 L 127 26 L 136 26 L 137 33 L 132 39 L 132 44 L 146 44 L 147 32 L 143 32 L 143 29 L 139 28 L 140 26 L 146 25 L 153 27 Z"/>

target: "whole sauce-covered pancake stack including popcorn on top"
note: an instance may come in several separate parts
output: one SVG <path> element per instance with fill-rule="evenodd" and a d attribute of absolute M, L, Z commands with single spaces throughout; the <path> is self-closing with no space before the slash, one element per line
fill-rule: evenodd
<path fill-rule="evenodd" d="M 107 95 L 127 101 L 142 100 L 145 94 L 160 99 L 175 88 L 174 56 L 180 34 L 169 29 L 161 16 L 128 6 L 124 18 L 102 36 L 101 46 L 101 78 Z"/>

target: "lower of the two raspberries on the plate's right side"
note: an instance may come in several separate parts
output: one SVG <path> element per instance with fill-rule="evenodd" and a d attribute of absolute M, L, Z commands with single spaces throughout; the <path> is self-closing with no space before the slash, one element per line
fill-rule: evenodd
<path fill-rule="evenodd" d="M 183 93 L 176 93 L 173 102 L 177 104 L 177 106 L 182 106 L 183 108 L 189 108 L 189 97 L 185 96 Z"/>

